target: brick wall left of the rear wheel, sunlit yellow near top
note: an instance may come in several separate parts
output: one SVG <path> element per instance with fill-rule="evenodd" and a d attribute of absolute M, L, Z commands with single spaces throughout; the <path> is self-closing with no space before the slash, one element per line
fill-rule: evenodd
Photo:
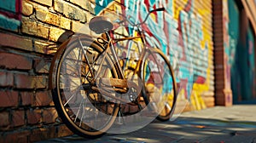
<path fill-rule="evenodd" d="M 0 142 L 72 134 L 49 91 L 53 48 L 94 14 L 83 0 L 0 0 Z"/>

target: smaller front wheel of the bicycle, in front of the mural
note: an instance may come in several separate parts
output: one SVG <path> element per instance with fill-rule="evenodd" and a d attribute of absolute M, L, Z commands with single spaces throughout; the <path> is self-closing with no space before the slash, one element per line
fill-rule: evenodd
<path fill-rule="evenodd" d="M 177 85 L 172 66 L 159 49 L 148 49 L 140 70 L 143 79 L 143 97 L 148 106 L 167 121 L 172 116 L 177 100 Z"/>

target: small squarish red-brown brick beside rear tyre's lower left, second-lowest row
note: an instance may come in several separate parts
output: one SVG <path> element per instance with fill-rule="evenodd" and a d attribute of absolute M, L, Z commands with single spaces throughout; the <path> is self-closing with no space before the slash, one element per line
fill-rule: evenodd
<path fill-rule="evenodd" d="M 55 119 L 58 117 L 58 113 L 55 107 L 44 109 L 43 111 L 43 123 L 55 123 Z"/>

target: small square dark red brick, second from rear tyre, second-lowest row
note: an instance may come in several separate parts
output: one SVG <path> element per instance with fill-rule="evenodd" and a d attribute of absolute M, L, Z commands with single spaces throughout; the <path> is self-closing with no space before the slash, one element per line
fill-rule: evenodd
<path fill-rule="evenodd" d="M 42 122 L 42 111 L 41 109 L 26 111 L 26 120 L 28 124 L 36 124 Z"/>

